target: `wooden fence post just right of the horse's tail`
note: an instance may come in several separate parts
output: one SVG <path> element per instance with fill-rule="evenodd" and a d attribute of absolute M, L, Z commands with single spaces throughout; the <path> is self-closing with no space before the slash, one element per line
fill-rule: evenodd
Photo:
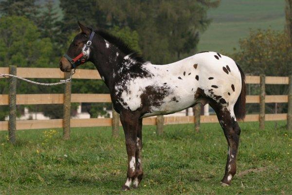
<path fill-rule="evenodd" d="M 265 129 L 265 75 L 260 75 L 260 95 L 259 95 L 259 128 L 261 130 Z"/>

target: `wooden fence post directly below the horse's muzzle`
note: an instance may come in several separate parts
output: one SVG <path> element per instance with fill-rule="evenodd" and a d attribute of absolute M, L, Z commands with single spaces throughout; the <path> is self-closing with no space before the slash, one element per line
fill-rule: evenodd
<path fill-rule="evenodd" d="M 65 72 L 65 79 L 70 78 L 71 73 Z M 63 105 L 63 139 L 70 139 L 71 118 L 71 82 L 65 83 Z"/>

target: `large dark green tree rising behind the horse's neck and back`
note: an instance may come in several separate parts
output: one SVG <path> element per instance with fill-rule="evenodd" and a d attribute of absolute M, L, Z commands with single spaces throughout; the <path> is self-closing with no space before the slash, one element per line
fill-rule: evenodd
<path fill-rule="evenodd" d="M 106 30 L 129 27 L 137 31 L 142 54 L 153 63 L 172 62 L 193 53 L 199 34 L 210 22 L 207 10 L 218 4 L 219 0 L 83 0 L 74 4 L 60 0 L 65 33 L 73 30 L 76 20 Z"/>

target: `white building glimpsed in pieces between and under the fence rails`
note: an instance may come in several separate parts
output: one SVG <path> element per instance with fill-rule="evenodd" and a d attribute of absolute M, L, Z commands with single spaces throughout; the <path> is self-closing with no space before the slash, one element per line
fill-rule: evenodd
<path fill-rule="evenodd" d="M 90 114 L 87 112 L 81 112 L 81 104 L 79 104 L 79 106 L 77 107 L 77 113 L 75 116 L 72 116 L 72 118 L 90 118 Z M 110 117 L 112 117 L 112 111 L 111 110 L 106 110 L 107 113 L 110 115 Z M 201 112 L 201 115 L 205 115 L 205 116 L 209 116 L 209 105 L 206 104 L 204 106 L 203 112 Z M 179 117 L 183 117 L 186 115 L 186 110 L 182 110 L 180 112 L 177 113 L 173 113 L 170 114 L 168 116 L 179 116 Z M 193 109 L 192 108 L 188 108 L 188 116 L 193 116 Z M 98 118 L 104 118 L 102 116 L 99 116 Z M 5 120 L 8 120 L 9 117 L 5 117 Z M 46 120 L 46 119 L 50 119 L 50 117 L 46 117 L 43 115 L 42 112 L 29 112 L 28 108 L 24 108 L 24 113 L 17 118 L 18 120 Z"/>

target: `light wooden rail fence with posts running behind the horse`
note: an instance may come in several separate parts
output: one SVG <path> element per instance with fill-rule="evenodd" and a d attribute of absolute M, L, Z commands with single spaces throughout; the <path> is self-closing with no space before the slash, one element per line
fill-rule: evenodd
<path fill-rule="evenodd" d="M 2 74 L 14 74 L 22 78 L 67 78 L 58 68 L 16 68 L 15 66 L 0 67 Z M 77 69 L 74 79 L 101 79 L 96 70 Z M 7 79 L 7 78 L 3 78 Z M 16 130 L 63 128 L 65 139 L 70 138 L 70 127 L 112 126 L 113 136 L 117 135 L 119 116 L 113 111 L 113 118 L 75 119 L 70 117 L 72 102 L 111 102 L 109 94 L 71 94 L 71 83 L 65 84 L 63 94 L 16 94 L 16 78 L 9 78 L 9 95 L 0 95 L 0 105 L 9 105 L 9 121 L 0 121 L 0 131 L 9 130 L 9 139 L 15 141 Z M 260 84 L 260 95 L 247 96 L 247 103 L 259 103 L 260 113 L 247 115 L 244 121 L 259 121 L 264 129 L 265 120 L 287 120 L 288 129 L 292 129 L 292 77 L 247 76 L 247 84 Z M 289 84 L 288 95 L 266 96 L 266 84 Z M 288 114 L 265 114 L 265 103 L 288 102 Z M 51 120 L 16 120 L 16 105 L 27 104 L 64 104 L 63 119 Z M 194 109 L 196 111 L 196 109 Z M 197 109 L 198 110 L 198 109 Z M 198 112 L 198 111 L 196 111 Z M 148 117 L 143 119 L 144 125 L 157 125 L 157 133 L 163 132 L 163 125 L 194 123 L 199 130 L 200 122 L 218 122 L 216 116 L 185 116 L 185 117 Z"/>

